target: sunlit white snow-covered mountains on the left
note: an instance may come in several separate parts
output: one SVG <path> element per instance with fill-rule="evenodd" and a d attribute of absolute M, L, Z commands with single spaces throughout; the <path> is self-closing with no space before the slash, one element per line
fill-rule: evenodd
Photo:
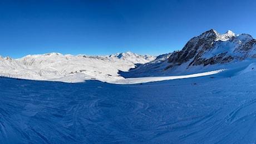
<path fill-rule="evenodd" d="M 0 75 L 31 80 L 80 82 L 86 79 L 112 81 L 122 78 L 118 72 L 154 60 L 154 56 L 131 52 L 110 56 L 27 55 L 21 59 L 0 57 Z"/>

